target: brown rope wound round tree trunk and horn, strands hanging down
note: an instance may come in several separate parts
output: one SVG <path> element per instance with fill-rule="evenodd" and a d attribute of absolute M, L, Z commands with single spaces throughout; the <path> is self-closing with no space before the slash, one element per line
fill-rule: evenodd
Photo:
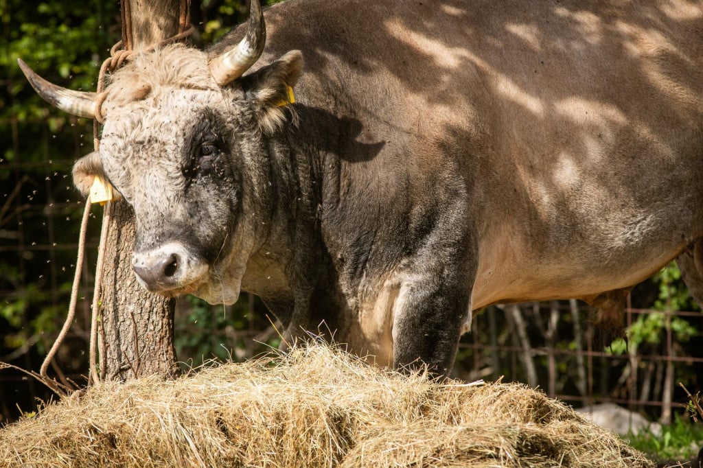
<path fill-rule="evenodd" d="M 117 42 L 112 48 L 110 48 L 110 57 L 106 58 L 103 61 L 103 64 L 100 67 L 100 72 L 98 74 L 98 86 L 97 86 L 97 95 L 96 95 L 96 116 L 95 120 L 93 120 L 93 148 L 98 151 L 100 148 L 100 125 L 105 122 L 105 115 L 103 114 L 103 103 L 105 102 L 105 98 L 108 96 L 108 92 L 105 91 L 105 75 L 109 72 L 114 72 L 118 68 L 120 68 L 122 65 L 124 65 L 127 60 L 130 58 L 134 57 L 136 55 L 136 52 L 132 50 L 132 26 L 131 26 L 131 12 L 129 8 L 129 0 L 123 0 L 122 2 L 122 37 L 125 39 L 125 43 L 123 41 Z M 165 39 L 163 41 L 160 41 L 159 44 L 156 44 L 153 47 L 150 47 L 146 49 L 143 52 L 149 52 L 153 51 L 156 48 L 163 47 L 167 44 L 172 44 L 176 41 L 180 41 L 181 39 L 186 39 L 186 37 L 191 36 L 193 32 L 195 32 L 195 27 L 193 26 L 188 26 L 190 23 L 190 0 L 180 0 L 179 2 L 179 33 L 175 34 L 172 37 L 169 37 L 168 39 Z M 187 28 L 187 29 L 186 29 Z M 124 48 L 121 48 L 123 47 Z M 46 370 L 49 368 L 49 365 L 51 364 L 51 361 L 53 360 L 54 356 L 56 356 L 56 352 L 58 351 L 58 348 L 61 346 L 63 343 L 63 340 L 66 337 L 66 334 L 68 332 L 68 329 L 70 328 L 71 323 L 73 322 L 73 318 L 75 317 L 75 312 L 76 312 L 76 303 L 77 303 L 77 297 L 78 297 L 78 287 L 80 284 L 80 275 L 82 272 L 82 266 L 84 263 L 84 254 L 85 254 L 85 239 L 86 239 L 86 230 L 88 227 L 88 219 L 90 216 L 90 208 L 91 208 L 91 202 L 90 199 L 86 200 L 86 206 L 85 210 L 83 212 L 83 218 L 81 221 L 81 230 L 78 238 L 78 256 L 77 256 L 77 261 L 76 261 L 76 271 L 75 275 L 73 277 L 73 286 L 71 290 L 71 299 L 69 302 L 68 306 L 68 313 L 66 316 L 66 320 L 63 324 L 63 327 L 61 328 L 61 331 L 58 334 L 58 337 L 56 337 L 56 341 L 53 343 L 51 346 L 51 349 L 49 350 L 49 353 L 46 354 L 46 358 L 44 358 L 44 363 L 41 364 L 41 369 L 39 371 L 39 376 L 42 382 L 49 386 L 49 388 L 53 389 L 54 391 L 57 391 L 57 386 L 56 382 L 53 381 L 53 379 L 49 379 L 49 376 L 46 375 Z M 112 212 L 112 204 L 111 202 L 108 202 L 105 205 L 105 210 L 103 212 L 103 226 L 101 228 L 101 235 L 100 235 L 100 246 L 98 247 L 98 261 L 96 264 L 96 274 L 95 274 L 95 287 L 93 289 L 93 302 L 92 302 L 92 315 L 91 315 L 91 334 L 90 334 L 90 348 L 89 348 L 89 365 L 90 365 L 90 370 L 89 370 L 89 384 L 95 384 L 98 382 L 101 378 L 105 377 L 105 360 L 104 358 L 101 359 L 100 363 L 100 368 L 101 370 L 98 371 L 97 369 L 97 361 L 98 361 L 98 353 L 100 353 L 100 356 L 104 356 L 104 337 L 103 337 L 103 332 L 104 330 L 101 327 L 99 316 L 100 316 L 100 304 L 98 304 L 99 298 L 100 298 L 100 289 L 101 289 L 101 282 L 102 282 L 102 277 L 103 277 L 103 259 L 105 256 L 105 250 L 107 247 L 107 236 L 108 236 L 108 230 L 110 228 L 110 215 Z M 101 335 L 98 337 L 98 330 L 101 330 Z M 97 350 L 96 350 L 96 341 L 97 343 Z M 58 393 L 58 391 L 57 391 Z"/>

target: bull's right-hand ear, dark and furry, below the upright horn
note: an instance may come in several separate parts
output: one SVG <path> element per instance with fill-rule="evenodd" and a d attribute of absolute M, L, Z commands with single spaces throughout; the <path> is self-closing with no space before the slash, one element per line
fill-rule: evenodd
<path fill-rule="evenodd" d="M 290 51 L 271 65 L 240 79 L 242 89 L 254 103 L 259 126 L 273 134 L 285 121 L 283 109 L 295 102 L 293 86 L 303 69 L 303 54 Z"/>

